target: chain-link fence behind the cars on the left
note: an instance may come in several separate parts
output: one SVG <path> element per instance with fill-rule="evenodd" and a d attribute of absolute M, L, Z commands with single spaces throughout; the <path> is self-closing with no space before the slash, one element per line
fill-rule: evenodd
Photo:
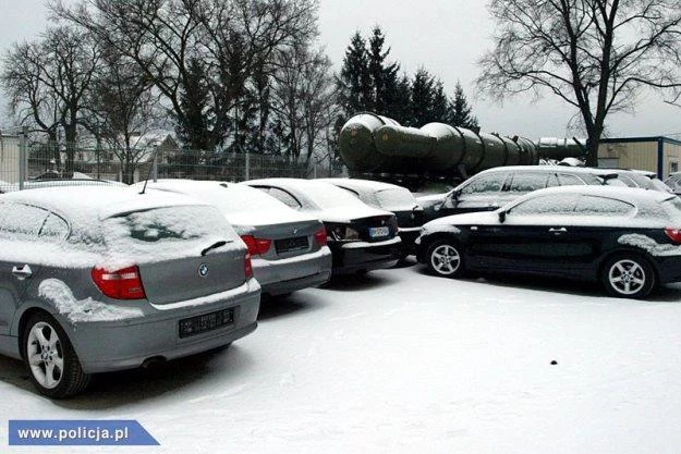
<path fill-rule="evenodd" d="M 264 177 L 315 179 L 340 176 L 344 169 L 329 159 L 309 162 L 285 156 L 181 150 L 162 143 L 155 147 L 109 148 L 32 143 L 23 135 L 2 136 L 0 191 L 83 184 L 84 180 L 132 184 L 147 179 L 191 179 L 240 182 Z M 23 164 L 23 168 L 22 168 Z M 76 183 L 77 182 L 77 183 Z"/>

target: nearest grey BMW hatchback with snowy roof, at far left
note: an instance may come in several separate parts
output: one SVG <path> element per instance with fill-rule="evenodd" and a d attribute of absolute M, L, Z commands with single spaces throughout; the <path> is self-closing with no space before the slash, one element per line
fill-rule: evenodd
<path fill-rule="evenodd" d="M 259 303 L 245 245 L 209 205 L 104 186 L 0 197 L 0 353 L 48 396 L 229 345 Z"/>

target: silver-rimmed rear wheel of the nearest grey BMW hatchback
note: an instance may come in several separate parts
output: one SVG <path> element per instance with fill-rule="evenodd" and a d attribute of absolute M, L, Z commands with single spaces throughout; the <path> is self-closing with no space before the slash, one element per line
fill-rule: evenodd
<path fill-rule="evenodd" d="M 28 319 L 22 335 L 22 354 L 28 376 L 41 394 L 70 397 L 89 383 L 90 376 L 83 372 L 69 336 L 47 312 Z"/>

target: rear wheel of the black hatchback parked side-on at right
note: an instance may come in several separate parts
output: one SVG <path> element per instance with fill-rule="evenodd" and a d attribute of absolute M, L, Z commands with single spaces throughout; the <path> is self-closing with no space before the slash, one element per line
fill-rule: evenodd
<path fill-rule="evenodd" d="M 645 298 L 655 287 L 655 271 L 639 254 L 618 254 L 605 261 L 601 281 L 612 296 Z"/>

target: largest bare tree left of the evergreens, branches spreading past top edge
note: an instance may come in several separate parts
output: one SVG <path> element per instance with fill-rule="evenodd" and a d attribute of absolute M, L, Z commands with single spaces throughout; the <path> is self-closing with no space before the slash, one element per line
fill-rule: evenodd
<path fill-rule="evenodd" d="M 316 33 L 316 0 L 83 0 L 73 8 L 57 0 L 50 8 L 133 59 L 197 149 L 224 142 L 255 68 L 273 71 L 276 49 Z M 192 61 L 203 62 L 205 84 Z M 210 96 L 187 93 L 193 87 Z"/>

